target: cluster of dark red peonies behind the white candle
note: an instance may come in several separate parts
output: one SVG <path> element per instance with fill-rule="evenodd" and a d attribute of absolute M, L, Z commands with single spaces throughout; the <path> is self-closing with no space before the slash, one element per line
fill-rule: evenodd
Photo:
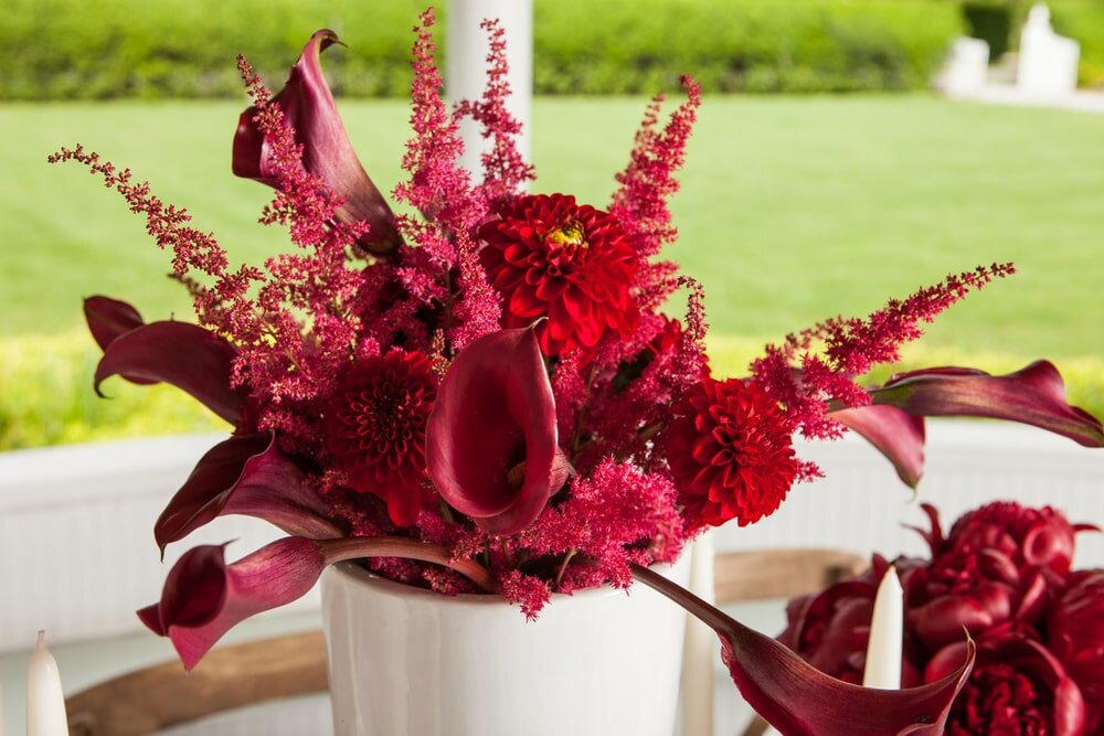
<path fill-rule="evenodd" d="M 904 589 L 902 684 L 917 686 L 977 660 L 951 707 L 954 736 L 1104 734 L 1104 572 L 1071 570 L 1072 525 L 1050 508 L 998 502 L 944 536 L 924 506 L 931 559 L 894 561 Z M 779 639 L 821 671 L 861 682 L 874 594 L 889 564 L 790 601 Z"/>

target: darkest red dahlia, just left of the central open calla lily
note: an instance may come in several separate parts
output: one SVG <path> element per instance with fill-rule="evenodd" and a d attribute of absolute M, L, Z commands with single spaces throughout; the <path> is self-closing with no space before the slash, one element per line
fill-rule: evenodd
<path fill-rule="evenodd" d="M 359 361 L 346 375 L 326 417 L 333 467 L 349 488 L 388 502 L 391 520 L 417 520 L 425 478 L 425 424 L 437 380 L 421 352 L 392 350 Z"/>

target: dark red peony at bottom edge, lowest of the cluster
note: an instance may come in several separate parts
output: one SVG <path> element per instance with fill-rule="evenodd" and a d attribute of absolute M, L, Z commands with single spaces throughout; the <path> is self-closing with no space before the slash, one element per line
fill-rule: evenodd
<path fill-rule="evenodd" d="M 932 658 L 928 682 L 962 662 L 966 643 L 955 642 Z M 1030 627 L 1006 625 L 978 639 L 977 662 L 947 717 L 948 736 L 1080 736 L 1085 705 L 1062 663 Z"/>

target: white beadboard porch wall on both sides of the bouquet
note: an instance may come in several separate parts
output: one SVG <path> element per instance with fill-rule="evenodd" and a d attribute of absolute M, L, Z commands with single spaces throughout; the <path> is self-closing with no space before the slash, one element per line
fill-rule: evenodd
<path fill-rule="evenodd" d="M 220 519 L 169 548 L 162 565 L 152 525 L 200 456 L 220 436 L 166 437 L 0 454 L 0 652 L 23 650 L 41 628 L 52 642 L 135 631 L 134 610 L 157 600 L 176 558 L 199 542 L 236 540 L 236 559 L 279 532 Z M 718 530 L 720 550 L 829 546 L 863 554 L 923 553 L 902 523 L 926 524 L 892 468 L 856 437 L 802 446 L 824 480 L 798 486 L 751 527 Z M 932 422 L 917 500 L 946 524 L 994 499 L 1052 504 L 1072 521 L 1104 525 L 1104 451 L 1030 427 Z M 1080 567 L 1104 567 L 1104 535 L 1078 541 Z M 311 594 L 291 610 L 317 608 Z M 286 609 L 285 609 L 286 610 Z"/>

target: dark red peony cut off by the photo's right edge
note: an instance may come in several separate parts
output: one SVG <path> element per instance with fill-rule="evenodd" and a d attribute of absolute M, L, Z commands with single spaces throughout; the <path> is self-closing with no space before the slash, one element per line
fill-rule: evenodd
<path fill-rule="evenodd" d="M 1068 583 L 1047 640 L 1085 697 L 1085 733 L 1104 734 L 1104 569 L 1074 573 Z"/>

